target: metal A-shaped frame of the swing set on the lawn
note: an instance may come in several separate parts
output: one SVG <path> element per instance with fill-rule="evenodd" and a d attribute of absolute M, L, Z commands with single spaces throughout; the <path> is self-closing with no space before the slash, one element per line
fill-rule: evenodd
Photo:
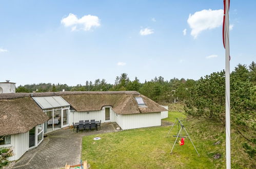
<path fill-rule="evenodd" d="M 169 130 L 169 132 L 168 132 L 166 138 L 170 135 L 171 130 L 172 130 L 173 126 L 175 125 L 176 121 L 178 121 L 178 122 L 177 122 L 177 135 L 176 135 L 176 136 L 175 136 L 175 135 L 173 136 L 173 137 L 176 137 L 176 139 L 175 139 L 175 142 L 174 142 L 174 144 L 173 144 L 173 146 L 172 146 L 172 149 L 171 149 L 170 154 L 171 154 L 172 151 L 173 151 L 174 145 L 175 145 L 176 141 L 178 140 L 178 137 L 186 138 L 186 136 L 188 136 L 189 140 L 191 141 L 192 145 L 194 146 L 193 141 L 191 140 L 191 138 L 190 138 L 190 136 L 189 136 L 189 134 L 188 134 L 188 132 L 187 132 L 185 126 L 182 124 L 182 122 L 179 120 L 179 118 L 176 118 L 176 120 L 174 121 L 174 123 L 173 123 L 173 125 L 171 126 L 171 129 Z M 180 125 L 181 125 L 181 129 L 179 130 L 179 126 L 180 126 Z M 182 129 L 186 132 L 187 135 L 180 135 Z M 184 136 L 185 136 L 185 137 L 184 137 Z M 194 146 L 194 150 L 196 151 L 196 153 L 198 153 L 198 150 L 196 150 L 195 146 Z M 198 153 L 198 155 L 199 155 L 199 153 Z M 200 156 L 200 155 L 199 155 L 199 156 Z"/>

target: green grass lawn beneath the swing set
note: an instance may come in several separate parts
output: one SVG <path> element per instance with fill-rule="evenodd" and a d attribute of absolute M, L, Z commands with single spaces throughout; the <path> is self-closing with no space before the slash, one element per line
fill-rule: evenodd
<path fill-rule="evenodd" d="M 210 120 L 185 120 L 186 116 L 181 112 L 169 112 L 169 117 L 163 120 L 174 122 L 176 117 L 183 119 L 200 157 L 188 138 L 183 146 L 176 143 L 173 154 L 170 154 L 176 128 L 166 138 L 170 126 L 159 126 L 85 136 L 82 160 L 88 160 L 91 168 L 225 168 L 225 128 Z M 102 139 L 93 140 L 96 136 Z M 242 149 L 243 138 L 235 133 L 231 136 L 231 146 L 237 149 L 232 151 L 232 167 L 253 168 L 255 161 Z M 219 140 L 221 143 L 215 145 Z M 213 159 L 216 153 L 222 157 Z"/>

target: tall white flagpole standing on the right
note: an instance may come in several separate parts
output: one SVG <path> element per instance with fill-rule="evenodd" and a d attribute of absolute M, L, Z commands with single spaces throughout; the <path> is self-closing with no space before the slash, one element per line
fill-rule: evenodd
<path fill-rule="evenodd" d="M 231 168 L 230 155 L 230 52 L 229 52 L 229 0 L 225 2 L 225 82 L 226 82 L 226 168 Z"/>

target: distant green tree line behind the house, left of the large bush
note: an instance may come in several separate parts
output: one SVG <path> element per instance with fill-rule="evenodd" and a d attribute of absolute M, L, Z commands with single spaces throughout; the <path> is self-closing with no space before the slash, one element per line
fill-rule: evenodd
<path fill-rule="evenodd" d="M 29 92 L 58 92 L 58 91 L 137 91 L 157 102 L 170 103 L 174 100 L 183 100 L 183 92 L 180 88 L 189 87 L 195 80 L 184 78 L 172 78 L 164 80 L 164 77 L 154 77 L 150 81 L 141 82 L 137 77 L 130 80 L 128 74 L 122 73 L 116 76 L 114 84 L 107 83 L 105 79 L 86 81 L 85 85 L 68 86 L 67 84 L 39 83 L 19 86 L 17 93 Z"/>

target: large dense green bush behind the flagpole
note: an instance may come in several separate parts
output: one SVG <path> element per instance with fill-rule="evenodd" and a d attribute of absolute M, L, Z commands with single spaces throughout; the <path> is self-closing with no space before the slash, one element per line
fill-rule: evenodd
<path fill-rule="evenodd" d="M 189 88 L 185 112 L 187 115 L 219 120 L 225 123 L 225 72 L 214 72 L 196 81 Z M 251 81 L 230 77 L 231 122 L 255 128 L 255 87 Z"/>

